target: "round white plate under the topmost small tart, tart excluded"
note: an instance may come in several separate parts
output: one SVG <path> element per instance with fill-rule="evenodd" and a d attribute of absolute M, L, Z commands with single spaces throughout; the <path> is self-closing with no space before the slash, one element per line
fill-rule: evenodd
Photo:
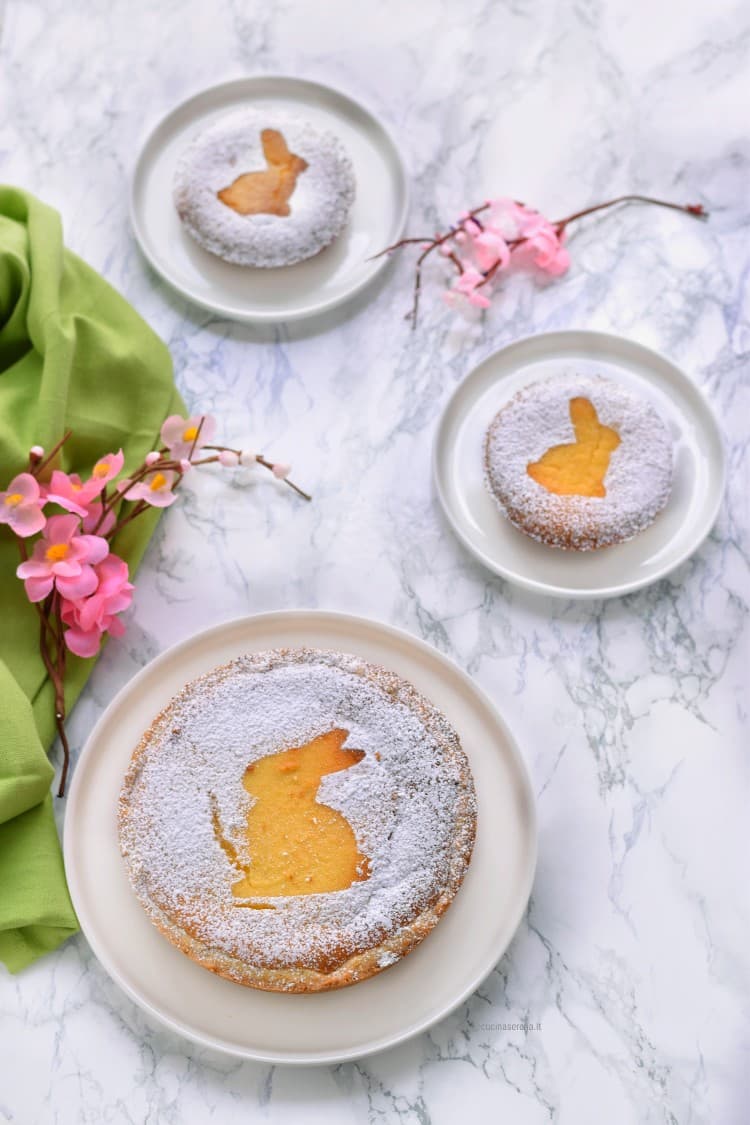
<path fill-rule="evenodd" d="M 298 114 L 342 141 L 354 164 L 356 198 L 342 234 L 315 258 L 283 269 L 232 266 L 187 233 L 172 201 L 180 153 L 227 111 L 252 106 Z M 156 125 L 135 166 L 130 218 L 157 273 L 183 296 L 237 321 L 293 321 L 333 308 L 386 264 L 370 255 L 404 230 L 408 188 L 404 162 L 383 125 L 346 94 L 296 78 L 242 78 L 183 101 Z"/>

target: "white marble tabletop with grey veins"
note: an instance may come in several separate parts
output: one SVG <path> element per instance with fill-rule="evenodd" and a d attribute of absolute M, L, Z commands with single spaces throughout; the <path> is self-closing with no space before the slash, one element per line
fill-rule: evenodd
<path fill-rule="evenodd" d="M 1 972 L 0 1119 L 748 1120 L 749 42 L 750 15 L 730 0 L 10 0 L 3 179 L 60 208 L 70 245 L 168 341 L 189 403 L 288 457 L 315 493 L 305 506 L 271 483 L 191 483 L 73 717 L 75 741 L 195 630 L 281 606 L 372 615 L 450 654 L 503 709 L 534 780 L 540 863 L 480 991 L 360 1064 L 292 1071 L 198 1050 L 146 1019 L 81 936 L 18 978 Z M 701 199 L 713 217 L 632 208 L 590 222 L 566 278 L 508 281 L 481 327 L 453 320 L 434 288 L 410 334 L 406 261 L 324 322 L 213 320 L 144 264 L 128 173 L 172 104 L 261 71 L 329 81 L 392 126 L 413 230 L 487 194 L 559 217 L 635 189 Z M 605 604 L 490 576 L 431 487 L 435 423 L 462 375 L 517 335 L 569 326 L 683 363 L 732 450 L 710 540 L 671 579 Z M 524 1020 L 540 1029 L 499 1029 Z"/>

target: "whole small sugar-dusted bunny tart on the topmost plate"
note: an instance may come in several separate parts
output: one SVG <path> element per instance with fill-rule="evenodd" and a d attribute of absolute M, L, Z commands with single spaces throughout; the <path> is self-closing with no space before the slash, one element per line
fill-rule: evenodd
<path fill-rule="evenodd" d="M 333 133 L 289 112 L 240 109 L 186 148 L 173 196 L 204 250 L 237 266 L 293 266 L 343 231 L 354 171 Z"/>

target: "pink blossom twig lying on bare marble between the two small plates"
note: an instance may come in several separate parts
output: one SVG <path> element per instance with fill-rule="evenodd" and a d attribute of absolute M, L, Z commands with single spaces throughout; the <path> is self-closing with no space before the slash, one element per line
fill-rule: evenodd
<path fill-rule="evenodd" d="M 651 196 L 627 195 L 604 204 L 585 207 L 567 218 L 551 222 L 539 212 L 513 199 L 488 199 L 473 210 L 464 212 L 457 223 L 433 237 L 401 238 L 387 246 L 374 258 L 392 254 L 404 246 L 421 246 L 414 271 L 414 297 L 407 320 L 417 324 L 422 295 L 422 269 L 435 251 L 449 261 L 455 276 L 444 299 L 452 308 L 473 306 L 489 308 L 494 285 L 499 274 L 518 266 L 531 266 L 551 277 L 559 277 L 570 266 L 566 246 L 568 226 L 587 215 L 616 207 L 620 204 L 641 202 L 668 207 L 695 218 L 707 218 L 702 204 L 675 204 Z"/>

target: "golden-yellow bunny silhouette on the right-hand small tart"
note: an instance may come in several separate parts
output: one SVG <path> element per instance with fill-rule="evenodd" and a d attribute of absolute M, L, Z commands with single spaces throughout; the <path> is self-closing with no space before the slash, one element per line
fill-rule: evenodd
<path fill-rule="evenodd" d="M 570 421 L 576 440 L 552 446 L 526 466 L 533 480 L 559 496 L 606 496 L 604 478 L 620 434 L 603 425 L 588 398 L 570 399 Z"/>

